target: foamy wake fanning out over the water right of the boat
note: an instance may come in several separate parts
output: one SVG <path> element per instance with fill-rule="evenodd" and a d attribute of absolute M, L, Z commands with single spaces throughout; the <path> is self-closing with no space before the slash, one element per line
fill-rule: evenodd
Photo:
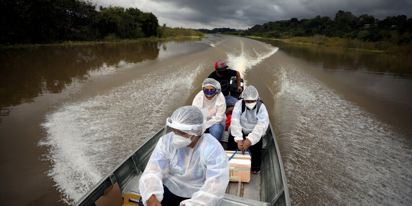
<path fill-rule="evenodd" d="M 293 205 L 412 205 L 406 137 L 295 66 L 278 67 L 275 129 L 293 151 L 283 157 Z"/>

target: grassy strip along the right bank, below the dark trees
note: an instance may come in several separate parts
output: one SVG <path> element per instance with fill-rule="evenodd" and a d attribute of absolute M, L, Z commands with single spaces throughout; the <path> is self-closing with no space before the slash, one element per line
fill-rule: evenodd
<path fill-rule="evenodd" d="M 312 37 L 292 37 L 290 39 L 273 39 L 273 38 L 262 38 L 246 36 L 255 39 L 267 39 L 267 40 L 278 40 L 284 42 L 293 43 L 305 43 L 305 44 L 315 44 L 322 46 L 332 46 L 339 48 L 351 48 L 360 50 L 369 50 L 376 52 L 386 52 L 395 55 L 412 55 L 412 45 L 397 45 L 388 41 L 361 41 L 358 39 L 342 39 L 338 37 L 326 37 L 322 35 L 315 35 Z"/>

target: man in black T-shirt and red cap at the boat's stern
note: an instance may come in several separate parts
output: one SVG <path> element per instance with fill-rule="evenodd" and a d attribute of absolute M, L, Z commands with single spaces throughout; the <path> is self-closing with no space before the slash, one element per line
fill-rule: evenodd
<path fill-rule="evenodd" d="M 237 91 L 242 92 L 242 87 L 240 86 L 241 77 L 240 73 L 235 70 L 227 69 L 228 66 L 226 65 L 225 61 L 219 60 L 215 63 L 215 71 L 212 72 L 208 78 L 212 78 L 218 81 L 222 87 L 222 93 L 225 96 L 226 101 L 226 115 L 232 114 L 234 103 L 238 101 L 238 99 L 232 97 L 230 95 L 230 79 L 232 77 L 236 77 L 237 80 Z"/>

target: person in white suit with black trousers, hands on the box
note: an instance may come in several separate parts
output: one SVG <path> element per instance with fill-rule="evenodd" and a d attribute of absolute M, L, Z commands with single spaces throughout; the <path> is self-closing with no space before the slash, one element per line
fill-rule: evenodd
<path fill-rule="evenodd" d="M 242 93 L 232 112 L 227 150 L 244 151 L 252 155 L 252 173 L 261 171 L 262 136 L 269 126 L 269 115 L 254 86 L 248 86 Z"/>

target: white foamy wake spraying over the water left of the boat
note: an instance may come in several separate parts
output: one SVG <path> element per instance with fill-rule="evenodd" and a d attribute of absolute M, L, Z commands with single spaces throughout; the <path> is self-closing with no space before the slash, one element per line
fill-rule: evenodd
<path fill-rule="evenodd" d="M 63 201 L 73 205 L 165 124 L 196 88 L 193 81 L 203 70 L 198 65 L 206 64 L 176 63 L 47 115 L 47 137 L 39 144 L 49 148 L 53 166 L 47 174 Z M 197 69 L 182 76 L 176 68 Z"/>

